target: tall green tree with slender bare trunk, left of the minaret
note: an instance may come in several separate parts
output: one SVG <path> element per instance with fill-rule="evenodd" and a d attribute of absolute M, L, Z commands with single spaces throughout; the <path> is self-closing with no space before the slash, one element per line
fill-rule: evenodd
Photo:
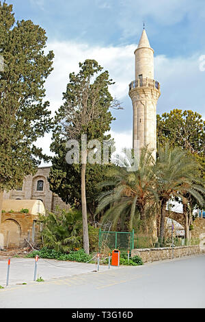
<path fill-rule="evenodd" d="M 83 248 L 89 253 L 85 180 L 88 147 L 81 138 L 86 136 L 87 142 L 95 139 L 102 142 L 105 139 L 105 132 L 109 131 L 111 121 L 114 119 L 109 108 L 112 106 L 118 108 L 119 104 L 109 93 L 109 86 L 113 81 L 109 78 L 108 71 L 102 71 L 102 67 L 95 60 L 85 60 L 79 63 L 79 67 L 79 73 L 70 73 L 70 81 L 66 92 L 63 93 L 64 105 L 56 114 L 57 125 L 53 131 L 51 149 L 58 153 L 59 145 L 65 145 L 68 140 L 77 140 L 79 143 Z M 107 140 L 109 138 L 107 136 Z M 99 148 L 97 150 L 99 151 Z M 61 153 L 64 153 L 64 149 Z"/>

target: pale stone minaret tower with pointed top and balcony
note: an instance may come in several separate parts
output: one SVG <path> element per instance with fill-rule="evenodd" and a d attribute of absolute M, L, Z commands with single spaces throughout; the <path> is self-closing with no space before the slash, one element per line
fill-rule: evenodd
<path fill-rule="evenodd" d="M 143 29 L 135 50 L 135 81 L 129 85 L 133 102 L 133 149 L 148 146 L 156 158 L 156 103 L 160 84 L 154 80 L 154 50 Z"/>

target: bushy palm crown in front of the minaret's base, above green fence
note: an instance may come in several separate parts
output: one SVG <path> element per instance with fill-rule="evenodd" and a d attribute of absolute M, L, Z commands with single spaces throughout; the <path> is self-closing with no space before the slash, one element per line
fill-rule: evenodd
<path fill-rule="evenodd" d="M 108 171 L 107 182 L 103 182 L 101 187 L 111 187 L 109 191 L 101 193 L 98 197 L 98 207 L 96 214 L 106 210 L 102 223 L 111 219 L 112 228 L 115 229 L 120 221 L 121 226 L 128 221 L 128 230 L 133 229 L 133 219 L 138 217 L 146 227 L 146 211 L 148 205 L 154 203 L 156 196 L 154 190 L 154 175 L 152 154 L 148 149 L 143 149 L 139 161 L 133 158 L 136 170 L 132 171 L 131 156 L 127 156 L 126 166 L 122 157 L 116 158 L 117 166 Z"/>

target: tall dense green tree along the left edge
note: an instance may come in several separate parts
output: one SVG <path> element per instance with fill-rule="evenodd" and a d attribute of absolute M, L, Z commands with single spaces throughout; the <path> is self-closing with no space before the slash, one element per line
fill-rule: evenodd
<path fill-rule="evenodd" d="M 15 21 L 12 5 L 0 2 L 0 199 L 46 160 L 35 145 L 52 124 L 44 82 L 54 55 L 44 53 L 46 39 L 44 29 Z"/>

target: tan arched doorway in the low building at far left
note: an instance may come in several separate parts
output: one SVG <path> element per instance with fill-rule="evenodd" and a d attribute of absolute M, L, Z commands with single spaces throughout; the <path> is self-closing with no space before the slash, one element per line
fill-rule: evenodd
<path fill-rule="evenodd" d="M 20 225 L 14 219 L 6 219 L 1 223 L 0 234 L 3 236 L 4 248 L 20 246 Z"/>

